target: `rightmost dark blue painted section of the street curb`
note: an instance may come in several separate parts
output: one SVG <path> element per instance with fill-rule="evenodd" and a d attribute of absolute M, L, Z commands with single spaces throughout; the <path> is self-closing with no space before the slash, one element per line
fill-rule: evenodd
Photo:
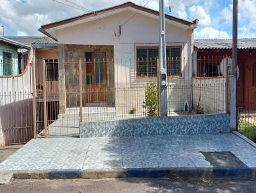
<path fill-rule="evenodd" d="M 252 169 L 249 167 L 228 167 L 213 168 L 212 174 L 218 178 L 248 178 L 252 176 Z"/>

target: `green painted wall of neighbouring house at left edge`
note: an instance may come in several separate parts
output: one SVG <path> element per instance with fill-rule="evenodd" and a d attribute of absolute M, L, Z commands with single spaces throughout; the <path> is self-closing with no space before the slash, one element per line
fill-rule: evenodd
<path fill-rule="evenodd" d="M 17 75 L 19 74 L 19 65 L 18 65 L 18 52 L 17 52 L 17 46 L 0 42 L 0 75 L 3 74 L 3 52 L 8 52 L 12 54 L 12 61 L 11 61 L 11 68 L 10 68 L 10 75 Z"/>

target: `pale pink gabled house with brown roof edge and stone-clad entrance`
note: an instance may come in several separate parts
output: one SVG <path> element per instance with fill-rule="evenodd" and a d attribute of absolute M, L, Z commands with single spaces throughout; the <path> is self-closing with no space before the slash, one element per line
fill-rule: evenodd
<path fill-rule="evenodd" d="M 165 17 L 166 54 L 168 58 L 173 59 L 172 63 L 167 64 L 168 80 L 190 81 L 191 55 L 197 20 L 189 22 L 170 15 Z M 159 12 L 128 2 L 46 24 L 40 31 L 58 41 L 58 89 L 61 113 L 64 113 L 68 107 L 73 107 L 68 104 L 69 101 L 79 103 L 78 96 L 71 94 L 67 96 L 68 93 L 78 92 L 79 74 L 74 70 L 76 67 L 72 62 L 77 62 L 79 59 L 83 63 L 84 91 L 98 93 L 97 96 L 90 97 L 84 94 L 85 106 L 106 105 L 108 102 L 109 107 L 122 107 L 124 97 L 131 99 L 126 100 L 125 103 L 131 103 L 132 106 L 136 103 L 132 101 L 132 96 L 127 96 L 125 93 L 119 95 L 117 92 L 111 94 L 111 90 L 124 86 L 131 88 L 141 81 L 156 80 Z M 65 65 L 61 65 L 64 63 Z M 70 75 L 73 76 L 73 82 L 70 80 Z M 108 92 L 100 93 L 104 90 Z M 136 90 L 134 93 L 142 96 L 145 95 L 145 90 L 141 89 L 141 93 Z M 185 100 L 187 99 L 182 98 L 180 104 L 183 105 Z M 142 101 L 139 103 L 142 105 Z M 129 110 L 122 109 L 122 112 L 127 113 Z"/>

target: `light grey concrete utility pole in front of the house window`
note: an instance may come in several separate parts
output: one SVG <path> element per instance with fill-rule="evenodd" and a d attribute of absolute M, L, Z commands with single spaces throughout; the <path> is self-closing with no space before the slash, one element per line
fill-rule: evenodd
<path fill-rule="evenodd" d="M 164 0 L 159 0 L 159 63 L 158 63 L 158 100 L 159 116 L 167 116 L 167 70 L 166 70 L 166 45 L 165 45 L 165 19 Z"/>

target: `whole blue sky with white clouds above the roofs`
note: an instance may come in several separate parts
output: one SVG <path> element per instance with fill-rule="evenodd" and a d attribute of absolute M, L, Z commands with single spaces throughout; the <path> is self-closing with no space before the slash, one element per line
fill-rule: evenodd
<path fill-rule="evenodd" d="M 38 31 L 42 24 L 125 2 L 122 0 L 0 0 L 0 35 L 3 35 L 1 26 L 4 26 L 4 36 L 42 36 Z M 154 10 L 159 9 L 159 0 L 132 2 Z M 165 0 L 164 6 L 167 14 L 186 20 L 199 20 L 195 38 L 232 38 L 232 0 Z M 169 6 L 172 7 L 172 12 L 169 12 Z M 256 38 L 256 0 L 238 0 L 238 37 Z"/>

